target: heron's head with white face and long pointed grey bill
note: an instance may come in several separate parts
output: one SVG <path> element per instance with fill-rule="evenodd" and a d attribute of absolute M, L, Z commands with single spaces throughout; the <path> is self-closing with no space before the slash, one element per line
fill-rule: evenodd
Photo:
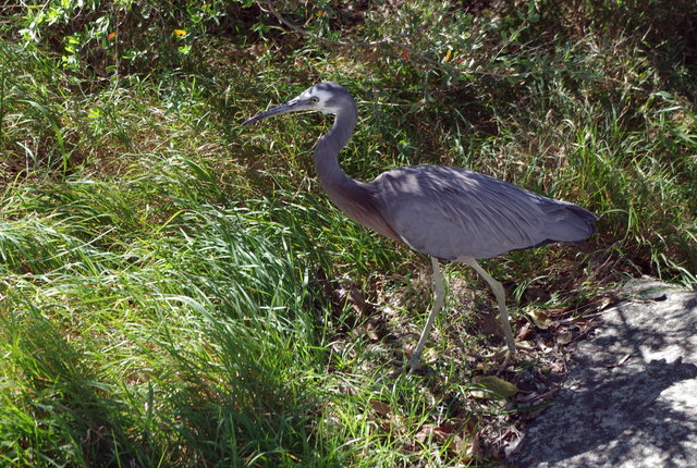
<path fill-rule="evenodd" d="M 325 114 L 335 114 L 346 106 L 355 106 L 351 94 L 334 82 L 322 82 L 310 86 L 297 97 L 281 106 L 256 114 L 243 122 L 243 125 L 249 125 L 256 121 L 289 112 L 319 111 Z"/>

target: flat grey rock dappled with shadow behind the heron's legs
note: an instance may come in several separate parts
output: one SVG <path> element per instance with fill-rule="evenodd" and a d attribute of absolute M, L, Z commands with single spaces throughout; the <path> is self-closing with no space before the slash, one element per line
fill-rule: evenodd
<path fill-rule="evenodd" d="M 579 344 L 519 467 L 697 467 L 697 292 L 633 281 Z"/>

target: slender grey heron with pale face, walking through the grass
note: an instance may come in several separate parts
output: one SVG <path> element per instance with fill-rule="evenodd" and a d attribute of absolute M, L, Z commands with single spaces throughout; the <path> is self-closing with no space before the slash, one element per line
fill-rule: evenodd
<path fill-rule="evenodd" d="M 408 165 L 386 171 L 371 182 L 350 177 L 339 164 L 339 152 L 353 135 L 358 109 L 348 90 L 333 82 L 310 86 L 243 125 L 307 111 L 334 115 L 331 128 L 318 139 L 314 151 L 315 171 L 330 200 L 359 224 L 431 259 L 433 303 L 407 361 L 408 371 L 420 368 L 421 353 L 443 307 L 445 293 L 439 260 L 468 264 L 491 288 L 508 347 L 505 366 L 516 349 L 505 292 L 477 260 L 557 242 L 582 244 L 595 231 L 595 214 L 577 205 L 456 167 Z"/>

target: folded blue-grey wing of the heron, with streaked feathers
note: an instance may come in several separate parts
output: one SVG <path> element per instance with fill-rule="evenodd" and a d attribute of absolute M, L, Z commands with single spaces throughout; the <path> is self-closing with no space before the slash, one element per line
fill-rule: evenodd
<path fill-rule="evenodd" d="M 406 167 L 370 185 L 381 214 L 417 251 L 437 258 L 490 258 L 550 242 L 580 242 L 595 217 L 461 168 Z"/>

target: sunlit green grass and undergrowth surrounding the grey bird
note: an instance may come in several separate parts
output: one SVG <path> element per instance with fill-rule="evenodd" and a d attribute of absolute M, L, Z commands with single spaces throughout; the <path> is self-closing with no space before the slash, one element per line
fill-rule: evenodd
<path fill-rule="evenodd" d="M 496 369 L 472 354 L 501 345 L 482 331 L 486 284 L 447 268 L 431 371 L 404 374 L 430 304 L 428 260 L 331 206 L 311 165 L 329 119 L 240 123 L 334 79 L 362 112 L 341 155 L 351 175 L 455 164 L 591 209 L 585 246 L 485 262 L 518 328 L 530 310 L 580 316 L 628 276 L 695 286 L 694 44 L 659 28 L 684 11 L 634 3 L 282 11 L 323 37 L 399 37 L 408 51 L 284 35 L 243 3 L 9 5 L 0 465 L 501 459 L 519 409 L 472 393 Z M 616 17 L 628 26 L 615 30 Z M 550 375 L 529 353 L 502 377 L 530 390 Z"/>

